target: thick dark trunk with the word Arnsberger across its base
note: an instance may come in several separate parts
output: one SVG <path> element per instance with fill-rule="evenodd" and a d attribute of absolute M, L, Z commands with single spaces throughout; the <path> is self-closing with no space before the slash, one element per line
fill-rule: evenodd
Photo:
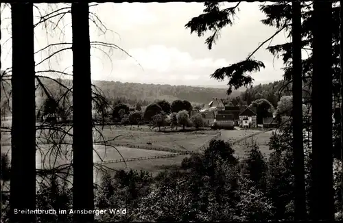
<path fill-rule="evenodd" d="M 93 133 L 91 44 L 88 3 L 72 3 L 73 32 L 73 209 L 93 210 Z M 74 222 L 93 222 L 94 215 L 74 215 Z"/>

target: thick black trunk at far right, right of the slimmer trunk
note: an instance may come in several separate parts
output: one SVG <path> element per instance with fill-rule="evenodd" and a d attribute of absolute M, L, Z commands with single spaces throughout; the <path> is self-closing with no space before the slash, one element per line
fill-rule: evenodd
<path fill-rule="evenodd" d="M 333 220 L 332 2 L 314 1 L 311 218 Z"/>

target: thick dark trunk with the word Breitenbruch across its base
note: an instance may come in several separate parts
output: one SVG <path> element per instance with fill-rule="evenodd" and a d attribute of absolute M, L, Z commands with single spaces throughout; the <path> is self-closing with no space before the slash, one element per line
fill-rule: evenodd
<path fill-rule="evenodd" d="M 15 209 L 36 209 L 36 105 L 32 3 L 12 3 L 12 161 L 10 222 L 34 222 Z"/>

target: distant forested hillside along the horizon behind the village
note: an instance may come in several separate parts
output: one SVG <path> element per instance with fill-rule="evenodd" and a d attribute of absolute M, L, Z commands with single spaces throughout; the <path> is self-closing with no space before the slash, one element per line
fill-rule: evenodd
<path fill-rule="evenodd" d="M 40 81 L 45 86 L 45 89 L 36 81 L 36 107 L 42 107 L 45 99 L 47 99 L 47 92 L 56 99 L 64 94 L 67 88 L 72 86 L 70 79 L 49 79 L 40 78 Z M 58 83 L 61 82 L 61 87 Z M 171 86 L 160 84 L 147 83 L 122 83 L 119 81 L 93 81 L 97 90 L 102 92 L 106 99 L 111 104 L 120 100 L 128 105 L 135 105 L 140 102 L 141 105 L 148 105 L 156 100 L 166 100 L 170 103 L 175 100 L 186 100 L 192 104 L 207 105 L 213 98 L 224 99 L 226 102 L 233 102 L 233 105 L 250 105 L 252 101 L 257 99 L 266 99 L 277 107 L 277 103 L 281 96 L 287 95 L 284 81 L 274 81 L 273 83 L 259 84 L 246 88 L 245 91 L 233 90 L 228 96 L 226 89 L 220 88 L 202 88 L 192 86 Z M 10 81 L 4 82 L 1 86 L 2 99 L 1 107 L 3 108 L 3 115 L 10 114 L 10 96 L 11 84 Z M 71 94 L 67 96 L 71 100 Z"/>

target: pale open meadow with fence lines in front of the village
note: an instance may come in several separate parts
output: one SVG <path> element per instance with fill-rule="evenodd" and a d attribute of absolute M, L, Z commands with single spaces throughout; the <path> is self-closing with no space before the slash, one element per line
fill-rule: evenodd
<path fill-rule="evenodd" d="M 6 127 L 10 124 L 6 123 Z M 37 168 L 51 168 L 71 162 L 71 134 L 69 126 L 59 127 L 62 131 L 37 130 Z M 171 155 L 178 152 L 199 151 L 206 146 L 219 131 L 203 129 L 199 131 L 157 131 L 147 126 L 105 126 L 94 129 L 94 162 L 117 160 L 106 163 L 105 166 L 115 169 L 148 170 L 154 174 L 180 166 L 183 158 L 187 155 L 176 155 L 158 159 L 141 159 L 134 161 L 118 161 L 139 157 L 154 157 Z M 257 130 L 220 130 L 220 140 L 233 143 L 235 154 L 244 157 L 248 152 L 252 141 L 258 144 L 262 153 L 268 155 L 268 142 L 271 132 Z M 62 140 L 61 140 L 62 139 Z M 241 140 L 241 142 L 237 142 Z M 106 141 L 106 145 L 104 145 Z M 10 132 L 3 132 L 1 150 L 10 151 Z M 10 154 L 10 153 L 9 153 Z M 43 160 L 44 159 L 44 160 Z"/>

